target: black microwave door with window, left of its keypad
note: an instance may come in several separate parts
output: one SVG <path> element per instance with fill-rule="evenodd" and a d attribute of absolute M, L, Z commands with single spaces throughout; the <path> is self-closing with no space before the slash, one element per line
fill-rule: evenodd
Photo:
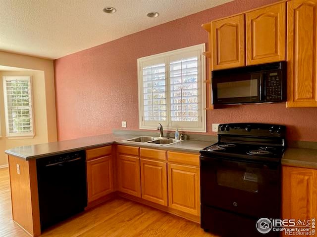
<path fill-rule="evenodd" d="M 256 103 L 264 100 L 263 74 L 230 74 L 212 78 L 212 103 Z"/>

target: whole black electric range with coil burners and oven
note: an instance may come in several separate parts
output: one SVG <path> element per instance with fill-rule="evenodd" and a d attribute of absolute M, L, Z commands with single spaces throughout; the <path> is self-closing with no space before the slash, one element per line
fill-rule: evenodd
<path fill-rule="evenodd" d="M 260 218 L 281 217 L 281 158 L 286 127 L 229 123 L 200 151 L 201 227 L 221 237 L 263 236 Z M 265 236 L 277 237 L 270 231 Z"/>

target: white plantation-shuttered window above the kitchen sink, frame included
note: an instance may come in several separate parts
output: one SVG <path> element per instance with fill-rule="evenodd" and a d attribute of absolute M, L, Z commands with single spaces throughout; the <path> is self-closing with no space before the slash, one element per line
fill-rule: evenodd
<path fill-rule="evenodd" d="M 139 126 L 206 131 L 205 44 L 138 59 Z"/>

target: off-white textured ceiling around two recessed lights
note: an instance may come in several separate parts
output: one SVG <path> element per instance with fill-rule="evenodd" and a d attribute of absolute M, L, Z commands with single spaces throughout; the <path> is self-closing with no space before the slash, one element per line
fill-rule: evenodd
<path fill-rule="evenodd" d="M 0 50 L 56 59 L 229 1 L 0 0 Z"/>

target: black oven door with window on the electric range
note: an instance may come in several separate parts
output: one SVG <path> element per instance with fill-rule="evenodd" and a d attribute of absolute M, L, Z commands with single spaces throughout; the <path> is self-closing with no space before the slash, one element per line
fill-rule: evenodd
<path fill-rule="evenodd" d="M 251 217 L 280 217 L 281 166 L 200 157 L 201 203 Z"/>

